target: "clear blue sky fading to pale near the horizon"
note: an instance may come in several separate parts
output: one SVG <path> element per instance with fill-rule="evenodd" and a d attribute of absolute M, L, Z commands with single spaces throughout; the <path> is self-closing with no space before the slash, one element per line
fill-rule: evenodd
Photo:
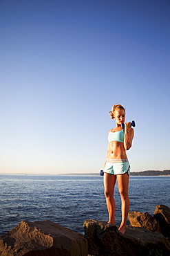
<path fill-rule="evenodd" d="M 169 0 L 0 1 L 0 172 L 98 173 L 108 112 L 136 120 L 131 171 L 166 170 Z"/>

